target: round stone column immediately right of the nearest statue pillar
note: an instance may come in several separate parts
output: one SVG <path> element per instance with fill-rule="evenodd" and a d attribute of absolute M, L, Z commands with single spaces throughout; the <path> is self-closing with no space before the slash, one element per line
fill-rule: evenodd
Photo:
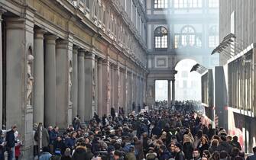
<path fill-rule="evenodd" d="M 34 30 L 34 106 L 33 123 L 44 123 L 44 34 Z"/>

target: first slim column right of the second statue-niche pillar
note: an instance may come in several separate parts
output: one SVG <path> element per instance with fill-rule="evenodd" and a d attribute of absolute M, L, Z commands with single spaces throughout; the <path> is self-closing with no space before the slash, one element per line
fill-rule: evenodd
<path fill-rule="evenodd" d="M 72 80 L 72 120 L 76 117 L 77 113 L 77 103 L 78 103 L 78 62 L 77 62 L 77 54 L 78 54 L 78 46 L 73 47 L 73 80 Z"/>

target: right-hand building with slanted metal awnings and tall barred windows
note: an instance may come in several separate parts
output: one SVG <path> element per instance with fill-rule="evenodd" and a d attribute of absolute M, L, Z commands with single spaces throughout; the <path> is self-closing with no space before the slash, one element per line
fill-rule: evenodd
<path fill-rule="evenodd" d="M 256 144 L 254 1 L 219 1 L 221 66 L 215 68 L 215 117 L 228 134 L 237 135 L 245 152 Z"/>

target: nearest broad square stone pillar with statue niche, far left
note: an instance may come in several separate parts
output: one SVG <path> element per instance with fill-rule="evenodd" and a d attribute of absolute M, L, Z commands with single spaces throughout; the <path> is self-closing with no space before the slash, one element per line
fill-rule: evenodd
<path fill-rule="evenodd" d="M 27 16 L 29 14 L 30 16 Z M 33 82 L 28 83 L 33 75 L 34 62 L 28 65 L 28 55 L 34 53 L 34 14 L 23 12 L 24 18 L 6 18 L 6 128 L 18 126 L 21 134 L 23 156 L 33 158 L 33 108 L 31 98 L 27 98 Z M 30 56 L 31 57 L 31 56 Z M 31 67 L 31 70 L 29 68 Z M 34 88 L 33 88 L 34 89 Z M 33 91 L 31 94 L 34 94 Z M 32 96 L 33 97 L 33 96 Z M 1 105 L 2 106 L 2 105 Z M 2 114 L 2 113 L 1 113 Z"/>

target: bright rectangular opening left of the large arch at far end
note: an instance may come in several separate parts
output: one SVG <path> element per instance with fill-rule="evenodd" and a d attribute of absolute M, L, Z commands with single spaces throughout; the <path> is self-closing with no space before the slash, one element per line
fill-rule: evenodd
<path fill-rule="evenodd" d="M 155 82 L 155 101 L 167 101 L 168 100 L 168 81 L 157 80 Z"/>

